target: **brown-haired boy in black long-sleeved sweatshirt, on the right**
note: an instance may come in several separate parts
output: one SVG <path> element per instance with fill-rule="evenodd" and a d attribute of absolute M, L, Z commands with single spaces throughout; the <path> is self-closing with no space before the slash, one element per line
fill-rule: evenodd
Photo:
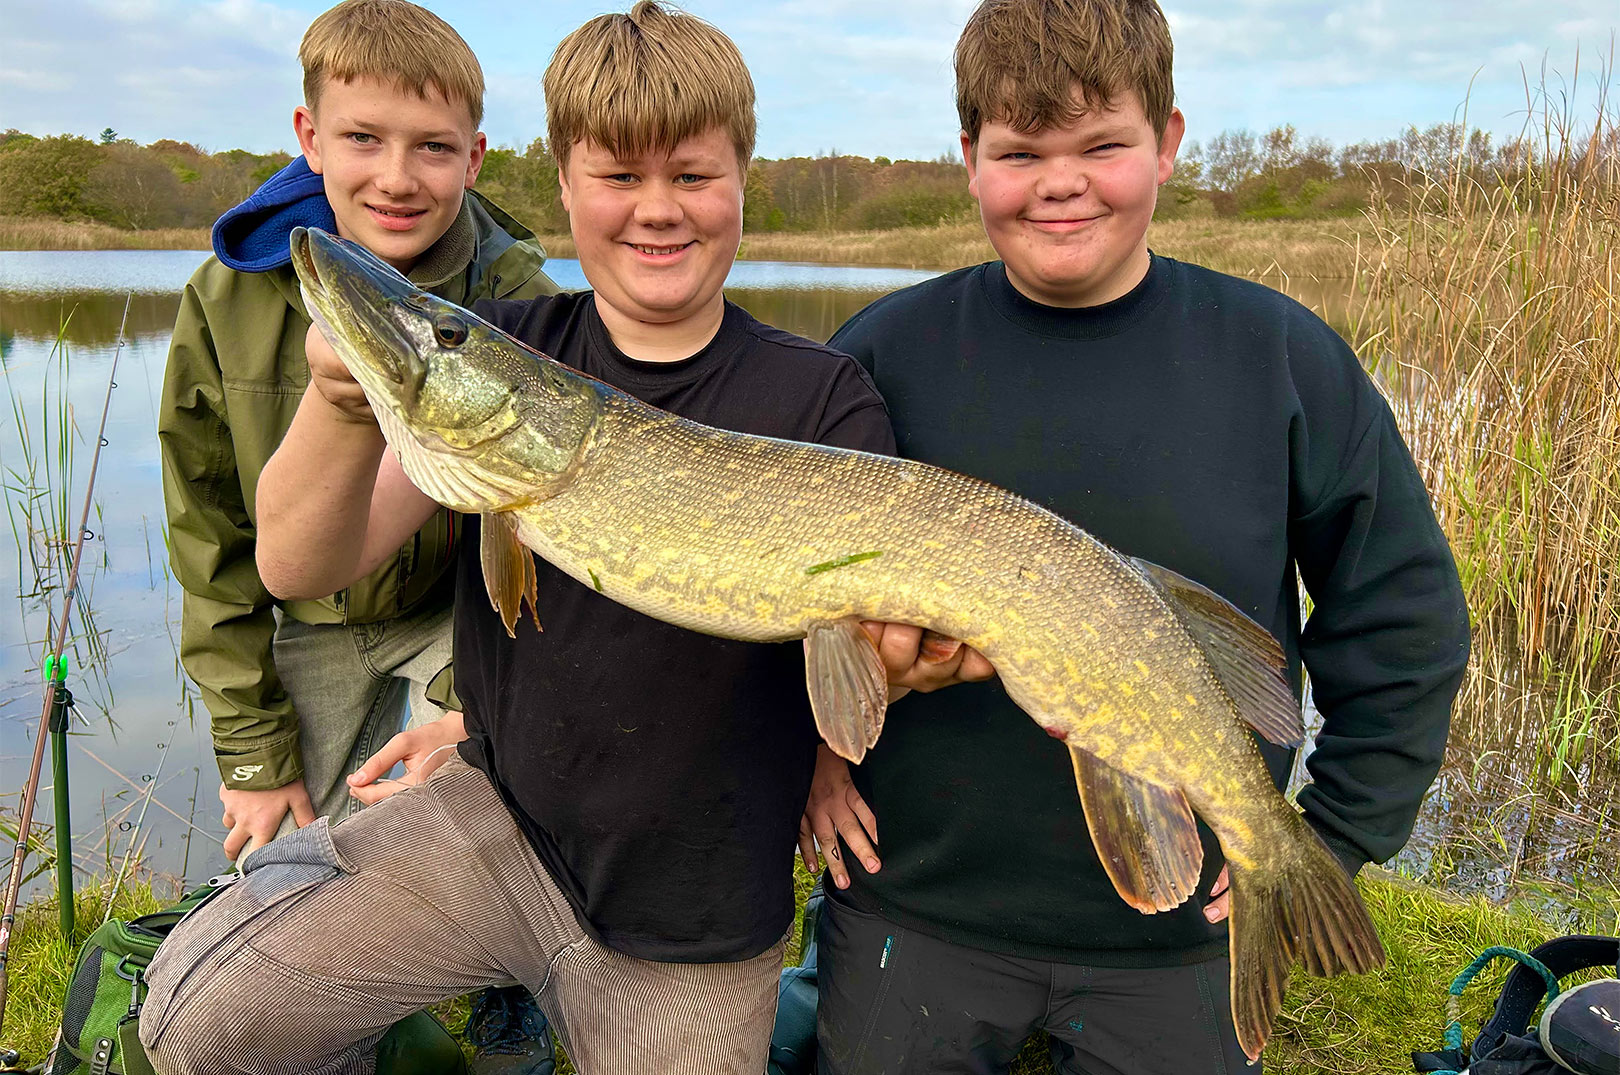
<path fill-rule="evenodd" d="M 1349 873 L 1392 856 L 1440 764 L 1468 614 L 1388 408 L 1298 303 L 1149 253 L 1183 134 L 1152 0 L 985 0 L 956 73 L 1000 261 L 873 303 L 833 345 L 872 371 L 902 455 L 1021 492 L 1268 628 L 1322 712 L 1306 819 Z M 917 641 L 885 630 L 901 683 L 991 673 L 972 652 L 919 661 Z M 1262 751 L 1281 785 L 1286 753 Z M 1200 826 L 1207 895 L 1126 907 L 1068 750 L 1000 683 L 901 701 L 854 784 L 823 748 L 813 787 L 805 840 L 846 847 L 820 933 L 823 1075 L 1003 1072 L 1038 1028 L 1064 1073 L 1256 1070 L 1218 843 Z"/>

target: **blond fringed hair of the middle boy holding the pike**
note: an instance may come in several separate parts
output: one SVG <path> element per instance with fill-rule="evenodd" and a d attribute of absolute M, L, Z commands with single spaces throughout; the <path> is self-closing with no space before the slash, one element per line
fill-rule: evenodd
<path fill-rule="evenodd" d="M 695 15 L 640 0 L 562 39 L 546 66 L 546 136 L 569 164 L 575 142 L 633 157 L 721 128 L 747 170 L 753 78 L 731 37 Z"/>

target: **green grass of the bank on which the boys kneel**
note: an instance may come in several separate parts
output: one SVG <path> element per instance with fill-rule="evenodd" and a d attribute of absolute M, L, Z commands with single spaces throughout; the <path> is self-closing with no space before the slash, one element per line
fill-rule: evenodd
<path fill-rule="evenodd" d="M 168 889 L 160 892 L 168 899 Z M 1458 970 L 1494 944 L 1529 949 L 1555 933 L 1528 911 L 1452 899 L 1379 869 L 1361 879 L 1361 892 L 1383 937 L 1388 965 L 1359 978 L 1296 973 L 1277 1036 L 1265 1051 L 1268 1072 L 1409 1072 L 1411 1049 L 1439 1047 L 1445 988 Z M 76 941 L 83 942 L 100 921 L 102 900 L 100 890 L 79 894 Z M 139 915 L 156 907 L 152 889 L 136 884 L 120 894 L 113 913 Z M 23 910 L 11 945 L 5 1044 L 21 1049 L 24 1064 L 37 1064 L 50 1047 L 73 952 L 57 933 L 53 903 L 36 902 Z M 797 952 L 791 957 L 797 958 Z M 1489 1015 L 1505 973 L 1505 965 L 1487 970 L 1464 996 L 1466 1033 Z M 465 1022 L 465 1004 L 447 1005 L 442 1015 L 457 1026 Z M 1019 1075 L 1050 1070 L 1038 1041 L 1014 1067 Z"/>

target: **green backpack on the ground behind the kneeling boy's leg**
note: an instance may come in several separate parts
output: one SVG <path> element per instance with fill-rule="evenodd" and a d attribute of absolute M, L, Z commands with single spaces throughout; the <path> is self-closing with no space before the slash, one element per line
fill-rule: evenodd
<path fill-rule="evenodd" d="M 62 1004 L 62 1038 L 45 1075 L 156 1075 L 136 1033 L 146 1004 L 146 968 L 180 920 L 238 874 L 211 877 L 173 907 L 97 926 L 79 949 Z M 428 1012 L 389 1028 L 377 1043 L 377 1075 L 465 1075 L 455 1038 Z"/>

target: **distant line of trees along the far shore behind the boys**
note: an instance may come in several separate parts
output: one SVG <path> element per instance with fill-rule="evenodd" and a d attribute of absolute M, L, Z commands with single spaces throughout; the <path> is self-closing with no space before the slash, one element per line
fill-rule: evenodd
<path fill-rule="evenodd" d="M 1458 168 L 1515 170 L 1521 141 L 1442 123 L 1400 138 L 1335 147 L 1293 126 L 1265 134 L 1223 131 L 1183 146 L 1158 217 L 1343 217 L 1382 191 L 1400 199 L 1414 176 Z M 141 146 L 105 130 L 76 134 L 0 134 L 0 215 L 96 220 L 120 228 L 209 227 L 282 168 L 284 152 L 206 152 L 172 139 Z M 546 144 L 491 149 L 478 189 L 541 233 L 567 230 L 557 168 Z M 833 151 L 818 157 L 757 159 L 748 168 L 748 232 L 849 232 L 930 227 L 969 217 L 961 160 L 889 160 Z"/>

